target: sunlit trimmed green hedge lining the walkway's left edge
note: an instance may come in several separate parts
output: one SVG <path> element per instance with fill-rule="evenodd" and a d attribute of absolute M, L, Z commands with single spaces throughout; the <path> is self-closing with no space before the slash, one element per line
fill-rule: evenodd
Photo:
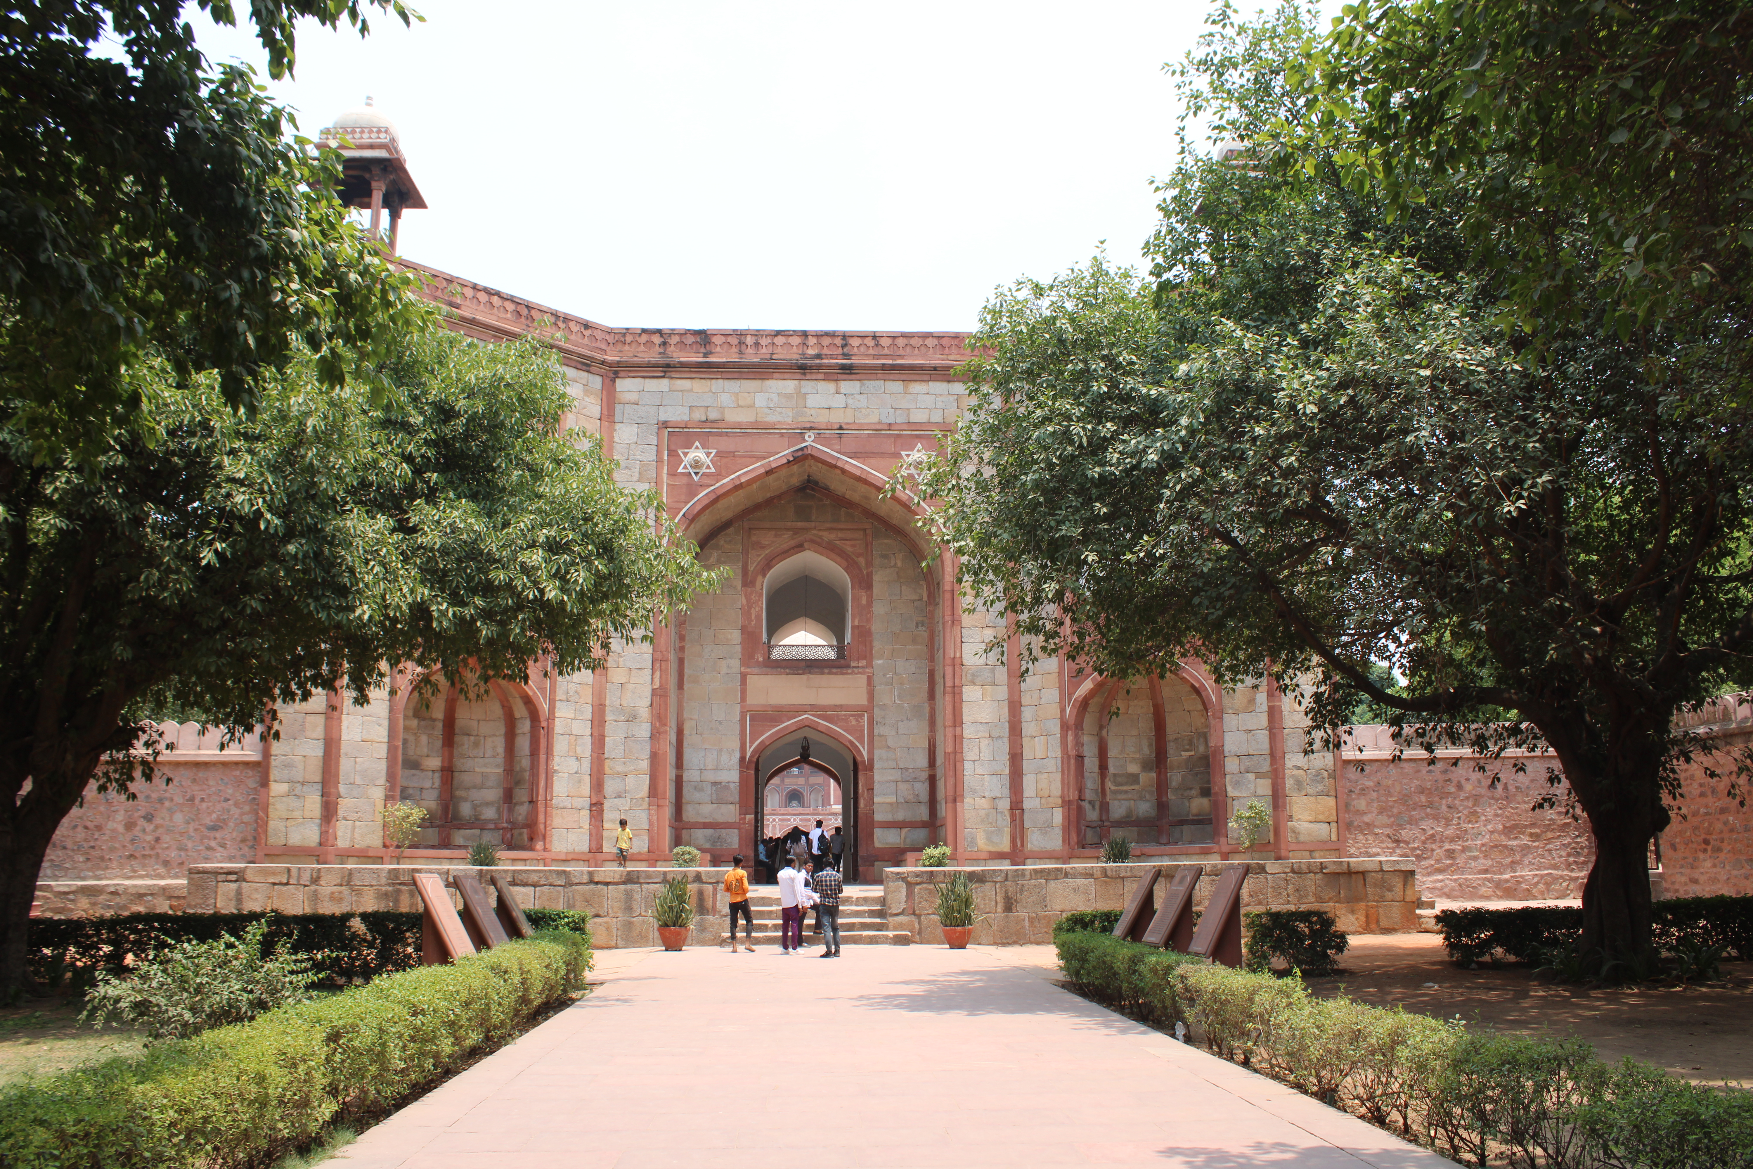
<path fill-rule="evenodd" d="M 0 1169 L 233 1169 L 370 1116 L 582 985 L 589 938 L 542 932 L 0 1090 Z"/>

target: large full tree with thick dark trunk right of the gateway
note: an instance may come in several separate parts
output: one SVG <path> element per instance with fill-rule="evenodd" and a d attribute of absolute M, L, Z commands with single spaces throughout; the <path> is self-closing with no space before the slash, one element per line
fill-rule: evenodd
<path fill-rule="evenodd" d="M 1269 673 L 1332 734 L 1369 698 L 1409 745 L 1550 745 L 1595 838 L 1583 945 L 1648 955 L 1648 847 L 1697 748 L 1672 715 L 1753 680 L 1737 361 L 1625 340 L 1609 298 L 1537 347 L 1506 329 L 1476 186 L 1429 170 L 1394 207 L 1332 158 L 1274 172 L 1309 25 L 1224 21 L 1183 84 L 1241 149 L 1183 156 L 1152 279 L 1096 261 L 987 305 L 913 489 L 1040 654 Z"/>

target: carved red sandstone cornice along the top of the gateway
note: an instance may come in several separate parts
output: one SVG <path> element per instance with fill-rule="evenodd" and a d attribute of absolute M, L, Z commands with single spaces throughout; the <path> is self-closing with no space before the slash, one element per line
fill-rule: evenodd
<path fill-rule="evenodd" d="M 536 333 L 563 358 L 617 377 L 820 377 L 947 380 L 969 358 L 966 333 L 810 329 L 617 329 L 410 259 L 422 294 L 480 340 Z"/>

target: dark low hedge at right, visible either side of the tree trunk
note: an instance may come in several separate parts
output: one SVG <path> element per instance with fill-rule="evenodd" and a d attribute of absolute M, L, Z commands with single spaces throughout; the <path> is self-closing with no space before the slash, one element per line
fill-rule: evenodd
<path fill-rule="evenodd" d="M 1462 966 L 1509 959 L 1537 962 L 1571 950 L 1583 934 L 1576 906 L 1443 910 L 1436 915 L 1448 955 Z M 1655 941 L 1667 953 L 1723 946 L 1753 959 L 1753 897 L 1674 897 L 1655 903 Z"/>

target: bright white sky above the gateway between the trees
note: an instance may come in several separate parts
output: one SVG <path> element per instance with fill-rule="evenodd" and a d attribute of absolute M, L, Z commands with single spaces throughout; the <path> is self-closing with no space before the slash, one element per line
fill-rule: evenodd
<path fill-rule="evenodd" d="M 429 210 L 401 252 L 615 326 L 971 329 L 1099 240 L 1175 156 L 1162 63 L 1204 0 L 414 0 L 307 26 L 305 135 L 372 95 Z M 247 5 L 238 5 L 247 9 Z M 196 21 L 207 54 L 245 30 Z"/>

